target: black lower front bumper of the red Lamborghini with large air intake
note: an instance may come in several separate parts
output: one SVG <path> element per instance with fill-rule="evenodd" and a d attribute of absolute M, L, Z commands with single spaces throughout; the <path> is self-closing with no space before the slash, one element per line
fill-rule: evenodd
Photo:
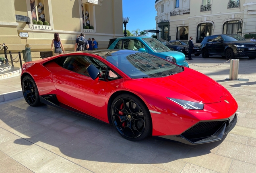
<path fill-rule="evenodd" d="M 229 133 L 237 123 L 237 113 L 227 119 L 216 121 L 200 121 L 180 135 L 159 136 L 181 143 L 196 145 L 219 141 Z"/>

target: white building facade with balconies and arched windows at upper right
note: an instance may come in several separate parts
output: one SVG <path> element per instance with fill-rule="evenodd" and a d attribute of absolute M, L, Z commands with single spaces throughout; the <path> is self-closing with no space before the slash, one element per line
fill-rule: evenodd
<path fill-rule="evenodd" d="M 158 38 L 256 33 L 256 0 L 155 0 Z"/>

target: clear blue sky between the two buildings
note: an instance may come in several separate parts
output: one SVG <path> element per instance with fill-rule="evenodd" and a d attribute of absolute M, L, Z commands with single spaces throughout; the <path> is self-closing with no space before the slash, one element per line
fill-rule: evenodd
<path fill-rule="evenodd" d="M 126 30 L 155 29 L 155 0 L 123 0 L 123 17 L 130 17 Z M 124 24 L 123 24 L 124 28 Z M 149 36 L 155 33 L 149 33 Z"/>

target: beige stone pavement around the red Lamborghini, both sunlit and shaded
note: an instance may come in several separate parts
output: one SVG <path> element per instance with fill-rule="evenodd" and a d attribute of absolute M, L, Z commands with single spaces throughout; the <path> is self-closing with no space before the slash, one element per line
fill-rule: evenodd
<path fill-rule="evenodd" d="M 189 62 L 200 66 L 226 61 L 193 58 Z M 225 80 L 229 66 L 190 64 L 226 87 L 239 105 L 237 125 L 221 141 L 184 145 L 149 137 L 131 142 L 105 123 L 50 106 L 30 107 L 20 98 L 0 103 L 0 172 L 255 173 L 256 59 L 240 59 L 238 78 L 248 81 Z M 8 80 L 0 80 L 1 92 L 5 86 L 19 89 L 18 77 Z"/>

